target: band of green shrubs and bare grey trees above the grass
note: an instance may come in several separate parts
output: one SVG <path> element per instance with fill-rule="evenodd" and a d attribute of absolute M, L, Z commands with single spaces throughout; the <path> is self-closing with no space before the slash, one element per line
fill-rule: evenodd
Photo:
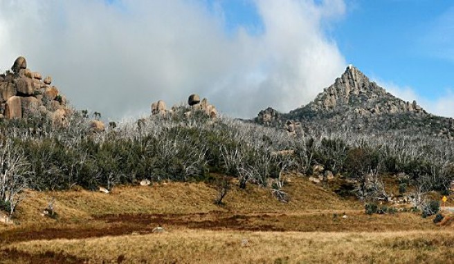
<path fill-rule="evenodd" d="M 212 173 L 238 178 L 239 187 L 268 187 L 282 173 L 310 176 L 314 165 L 351 178 L 352 194 L 386 199 L 382 177 L 405 173 L 404 184 L 421 192 L 447 192 L 454 177 L 454 144 L 437 138 L 381 137 L 349 131 L 292 137 L 285 131 L 218 117 L 185 106 L 172 114 L 114 124 L 93 133 L 86 112 L 73 112 L 67 126 L 45 115 L 1 120 L 0 198 L 18 188 L 94 190 L 147 179 L 210 181 Z M 17 162 L 18 164 L 14 164 Z M 16 167 L 15 167 L 16 166 Z M 273 185 L 279 189 L 282 182 Z M 6 205 L 3 205 L 6 207 Z"/>

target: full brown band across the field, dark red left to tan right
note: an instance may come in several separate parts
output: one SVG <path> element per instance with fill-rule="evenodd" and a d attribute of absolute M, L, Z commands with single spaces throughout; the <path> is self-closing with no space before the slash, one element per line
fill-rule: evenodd
<path fill-rule="evenodd" d="M 172 229 L 210 229 L 262 232 L 389 232 L 426 230 L 436 227 L 431 219 L 402 213 L 369 216 L 363 211 L 342 214 L 232 214 L 212 211 L 197 214 L 106 214 L 93 216 L 89 225 L 60 225 L 39 229 L 24 227 L 10 229 L 0 234 L 0 245 L 12 241 L 43 239 L 82 239 L 102 236 L 149 234 L 155 227 Z"/>

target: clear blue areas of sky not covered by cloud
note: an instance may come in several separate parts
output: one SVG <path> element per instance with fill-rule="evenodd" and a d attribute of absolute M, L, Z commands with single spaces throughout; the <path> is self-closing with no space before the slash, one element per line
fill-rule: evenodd
<path fill-rule="evenodd" d="M 222 6 L 227 32 L 242 26 L 253 34 L 264 30 L 251 1 L 208 4 Z M 325 30 L 348 64 L 372 79 L 411 87 L 428 100 L 454 88 L 453 1 L 347 0 L 345 7 L 345 15 Z"/>

